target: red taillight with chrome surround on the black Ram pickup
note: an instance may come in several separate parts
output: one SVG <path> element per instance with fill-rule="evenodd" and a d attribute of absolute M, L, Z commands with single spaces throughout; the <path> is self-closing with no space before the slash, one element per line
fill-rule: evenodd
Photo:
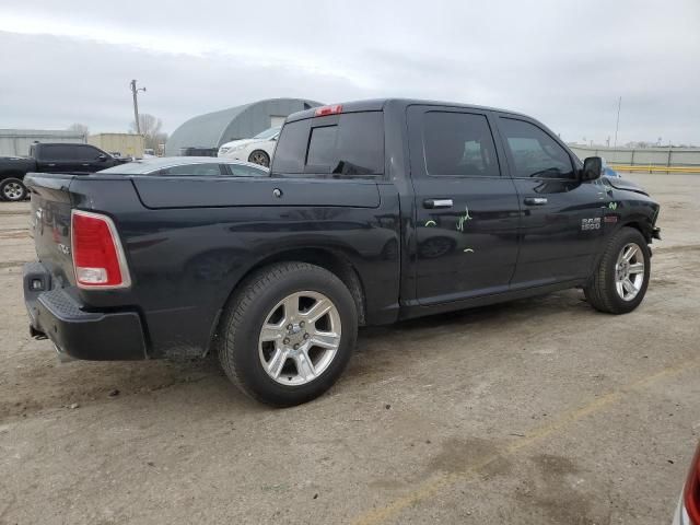
<path fill-rule="evenodd" d="M 71 252 L 79 288 L 104 290 L 131 284 L 117 229 L 108 217 L 73 210 Z"/>

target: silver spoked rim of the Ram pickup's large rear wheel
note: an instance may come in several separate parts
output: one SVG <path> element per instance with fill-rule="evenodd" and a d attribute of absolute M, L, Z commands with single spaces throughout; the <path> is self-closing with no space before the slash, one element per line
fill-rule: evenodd
<path fill-rule="evenodd" d="M 340 346 L 338 308 L 326 295 L 303 291 L 277 303 L 262 323 L 262 369 L 282 385 L 305 385 L 330 365 Z"/>

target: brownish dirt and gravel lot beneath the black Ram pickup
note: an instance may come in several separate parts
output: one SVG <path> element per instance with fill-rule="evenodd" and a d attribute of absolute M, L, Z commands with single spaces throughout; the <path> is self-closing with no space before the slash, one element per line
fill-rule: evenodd
<path fill-rule="evenodd" d="M 211 360 L 58 364 L 26 330 L 27 206 L 0 203 L 0 523 L 669 522 L 700 429 L 700 176 L 630 178 L 663 206 L 637 312 L 567 291 L 366 329 L 288 410 Z"/>

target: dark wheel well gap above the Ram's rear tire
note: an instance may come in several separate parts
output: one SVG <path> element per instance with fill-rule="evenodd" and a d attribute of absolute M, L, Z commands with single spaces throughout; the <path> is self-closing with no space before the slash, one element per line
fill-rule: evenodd
<path fill-rule="evenodd" d="M 243 282 L 250 273 L 265 266 L 283 261 L 308 262 L 310 265 L 319 266 L 334 273 L 348 288 L 352 299 L 354 300 L 354 304 L 358 308 L 358 324 L 360 326 L 365 325 L 366 305 L 364 301 L 364 288 L 362 285 L 362 281 L 353 266 L 337 252 L 319 248 L 303 248 L 282 252 L 259 261 L 250 268 L 245 276 L 243 276 L 238 283 Z M 238 284 L 236 284 L 236 288 L 237 285 Z"/>

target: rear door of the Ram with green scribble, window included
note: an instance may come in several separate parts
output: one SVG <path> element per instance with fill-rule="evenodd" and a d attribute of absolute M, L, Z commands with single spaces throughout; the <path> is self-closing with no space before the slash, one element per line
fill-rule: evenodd
<path fill-rule="evenodd" d="M 504 292 L 517 258 L 518 199 L 488 112 L 410 106 L 416 291 L 421 304 Z"/>

